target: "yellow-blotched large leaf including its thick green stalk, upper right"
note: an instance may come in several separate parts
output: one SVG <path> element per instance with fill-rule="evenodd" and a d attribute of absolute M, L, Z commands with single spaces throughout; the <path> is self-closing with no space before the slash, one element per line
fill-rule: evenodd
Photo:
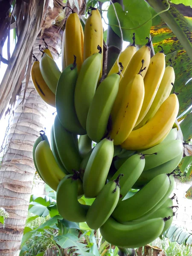
<path fill-rule="evenodd" d="M 166 0 L 147 0 L 156 12 L 167 9 Z M 185 7 L 185 6 L 184 6 Z M 172 58 L 175 69 L 175 90 L 180 102 L 179 114 L 192 105 L 192 26 L 188 20 L 170 3 L 169 11 L 160 14 L 163 22 L 151 27 L 153 44 L 161 45 L 166 54 L 166 61 Z M 166 23 L 165 23 L 166 22 Z"/>

